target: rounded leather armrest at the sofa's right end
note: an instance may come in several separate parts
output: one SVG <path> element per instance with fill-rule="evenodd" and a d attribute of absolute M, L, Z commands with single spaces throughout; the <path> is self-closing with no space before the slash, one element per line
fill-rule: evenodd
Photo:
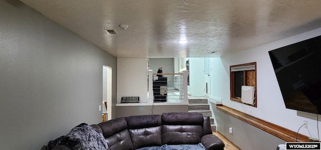
<path fill-rule="evenodd" d="M 202 144 L 206 149 L 223 149 L 225 147 L 224 142 L 213 134 L 204 135 L 201 139 Z"/>

